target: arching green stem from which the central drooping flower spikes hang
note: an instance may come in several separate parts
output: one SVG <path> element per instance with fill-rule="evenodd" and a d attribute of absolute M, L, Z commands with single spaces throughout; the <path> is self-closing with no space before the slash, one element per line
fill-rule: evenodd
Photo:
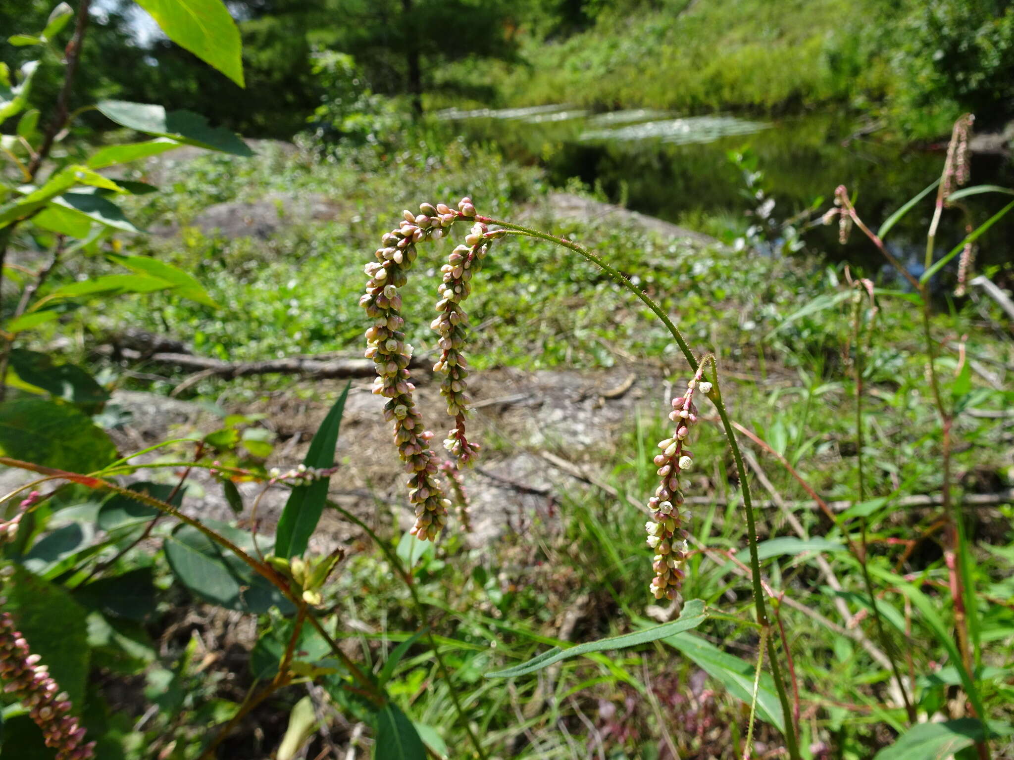
<path fill-rule="evenodd" d="M 694 372 L 697 372 L 700 363 L 694 356 L 694 353 L 691 351 L 691 348 L 686 344 L 682 334 L 680 334 L 679 330 L 676 328 L 676 325 L 672 323 L 671 319 L 669 319 L 668 315 L 662 311 L 661 307 L 655 303 L 655 301 L 647 293 L 635 286 L 629 279 L 627 279 L 626 276 L 623 275 L 623 273 L 603 261 L 600 256 L 592 253 L 583 245 L 575 243 L 572 240 L 567 240 L 563 237 L 556 237 L 555 235 L 539 232 L 528 227 L 522 227 L 508 222 L 501 222 L 497 219 L 490 219 L 489 217 L 482 216 L 477 216 L 476 220 L 485 224 L 495 224 L 507 231 L 513 231 L 515 234 L 535 237 L 540 240 L 546 240 L 547 242 L 562 245 L 563 247 L 573 250 L 575 253 L 578 253 L 594 263 L 596 267 L 605 272 L 605 274 L 608 275 L 613 282 L 637 296 L 659 319 L 662 320 L 662 324 L 665 325 L 666 329 L 668 329 L 669 333 L 672 335 L 672 338 L 676 341 L 676 345 L 679 347 L 679 351 L 682 353 L 686 363 L 691 366 L 691 369 Z M 760 586 L 760 560 L 757 557 L 756 524 L 753 519 L 753 502 L 750 498 L 750 487 L 746 478 L 746 466 L 743 463 L 743 456 L 742 452 L 739 450 L 739 445 L 736 443 L 736 436 L 732 429 L 732 422 L 729 420 L 725 403 L 722 400 L 722 393 L 718 383 L 718 368 L 714 361 L 712 362 L 712 367 L 714 369 L 713 387 L 711 393 L 708 394 L 708 397 L 718 410 L 718 415 L 722 421 L 722 427 L 725 430 L 725 436 L 729 441 L 730 448 L 732 449 L 732 457 L 736 462 L 736 472 L 739 476 L 739 486 L 743 495 L 743 507 L 746 515 L 747 542 L 750 550 L 750 567 L 752 569 L 751 575 L 753 581 L 753 604 L 756 610 L 757 622 L 762 625 L 762 627 L 770 627 L 771 621 L 768 618 L 768 610 L 764 601 L 764 589 Z M 786 643 L 786 647 L 788 647 L 788 643 Z M 788 717 L 791 714 L 789 697 L 786 693 L 785 683 L 782 680 L 782 674 L 778 665 L 778 658 L 772 657 L 770 660 L 771 673 L 775 682 L 775 689 L 778 692 L 779 701 L 781 701 L 782 709 L 786 715 L 785 740 L 788 745 L 789 757 L 792 758 L 792 760 L 799 760 L 800 755 L 796 740 L 796 732 L 792 726 L 791 719 Z"/>

